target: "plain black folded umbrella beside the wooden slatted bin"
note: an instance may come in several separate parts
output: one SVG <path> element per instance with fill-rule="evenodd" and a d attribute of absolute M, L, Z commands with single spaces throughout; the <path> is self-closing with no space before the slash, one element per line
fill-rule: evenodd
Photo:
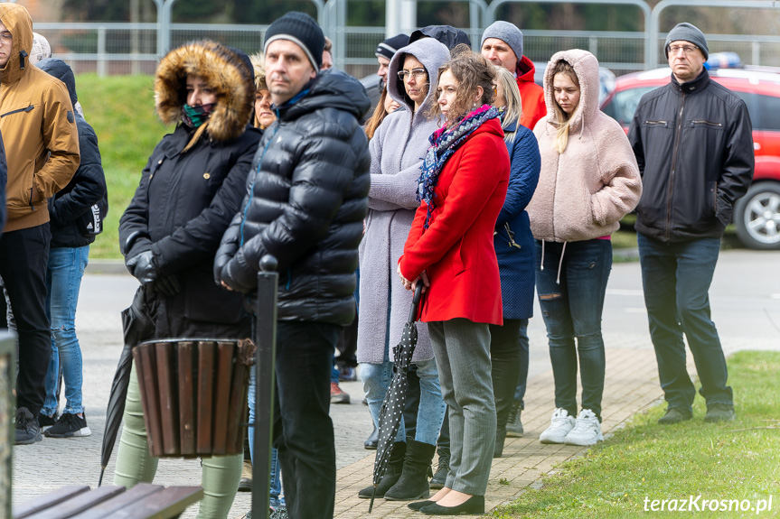
<path fill-rule="evenodd" d="M 146 303 L 144 302 L 145 285 L 136 290 L 133 304 L 122 310 L 122 330 L 125 334 L 125 348 L 119 356 L 117 373 L 111 384 L 111 394 L 108 396 L 106 409 L 106 429 L 103 433 L 103 447 L 100 451 L 100 478 L 98 487 L 103 483 L 103 473 L 108 467 L 108 459 L 114 450 L 117 441 L 119 423 L 122 422 L 122 414 L 125 412 L 125 399 L 127 398 L 127 385 L 130 384 L 130 370 L 133 367 L 133 348 L 146 338 L 150 338 L 155 331 L 155 321 L 152 320 Z"/>

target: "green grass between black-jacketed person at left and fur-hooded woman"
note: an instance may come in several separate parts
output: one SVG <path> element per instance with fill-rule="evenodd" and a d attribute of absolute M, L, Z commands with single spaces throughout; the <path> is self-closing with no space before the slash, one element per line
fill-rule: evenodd
<path fill-rule="evenodd" d="M 169 129 L 155 115 L 151 76 L 76 78 L 84 117 L 98 134 L 108 184 L 105 230 L 89 250 L 90 258 L 119 258 L 119 217 L 136 191 L 141 171 L 155 145 Z"/>

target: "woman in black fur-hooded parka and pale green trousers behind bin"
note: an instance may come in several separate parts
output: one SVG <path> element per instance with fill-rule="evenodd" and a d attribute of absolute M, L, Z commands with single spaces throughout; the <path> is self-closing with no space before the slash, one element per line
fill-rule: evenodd
<path fill-rule="evenodd" d="M 155 108 L 176 125 L 163 137 L 119 220 L 125 264 L 141 283 L 153 338 L 248 338 L 242 296 L 217 286 L 214 254 L 240 210 L 260 133 L 249 125 L 255 85 L 249 59 L 202 40 L 170 51 L 157 67 Z M 136 375 L 131 375 L 114 484 L 151 482 Z M 242 455 L 203 459 L 199 518 L 226 517 Z"/>

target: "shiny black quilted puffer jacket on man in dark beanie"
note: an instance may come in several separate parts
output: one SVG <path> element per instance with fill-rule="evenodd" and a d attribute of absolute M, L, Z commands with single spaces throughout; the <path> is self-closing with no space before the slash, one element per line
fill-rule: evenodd
<path fill-rule="evenodd" d="M 361 83 L 325 70 L 277 110 L 260 142 L 246 198 L 222 237 L 214 278 L 256 292 L 259 261 L 277 258 L 277 318 L 349 325 L 368 210 L 371 155 L 359 121 Z"/>

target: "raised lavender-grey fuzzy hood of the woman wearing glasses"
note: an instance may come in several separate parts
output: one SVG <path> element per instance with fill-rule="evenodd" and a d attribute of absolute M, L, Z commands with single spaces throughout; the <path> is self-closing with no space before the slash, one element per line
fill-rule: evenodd
<path fill-rule="evenodd" d="M 388 94 L 398 101 L 402 107 L 414 111 L 414 103 L 406 95 L 403 80 L 399 79 L 399 70 L 403 69 L 403 60 L 407 55 L 414 56 L 428 71 L 428 94 L 420 106 L 419 111 L 425 113 L 429 107 L 436 103 L 436 81 L 438 68 L 449 60 L 449 50 L 446 46 L 433 38 L 423 38 L 417 42 L 402 47 L 395 53 L 388 69 Z"/>

